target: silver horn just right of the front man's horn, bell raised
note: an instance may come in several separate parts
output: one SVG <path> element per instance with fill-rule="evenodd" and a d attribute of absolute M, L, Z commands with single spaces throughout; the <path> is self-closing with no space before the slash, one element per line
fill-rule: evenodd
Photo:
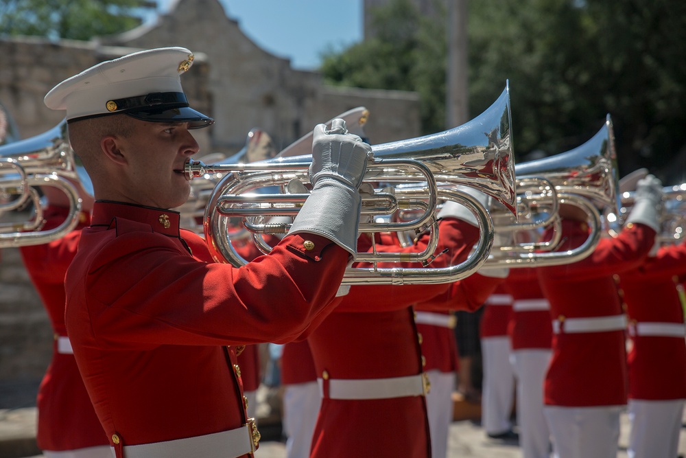
<path fill-rule="evenodd" d="M 491 211 L 495 231 L 510 243 L 494 247 L 488 267 L 553 266 L 569 264 L 590 255 L 600 241 L 603 226 L 619 217 L 617 153 L 610 115 L 589 141 L 560 154 L 519 163 L 517 176 L 519 224 L 511 224 L 503 211 Z M 589 238 L 573 250 L 555 252 L 561 227 L 558 205 L 579 207 L 588 216 Z M 601 215 L 602 209 L 603 213 Z M 547 218 L 536 220 L 537 215 Z M 532 234 L 553 227 L 553 239 L 539 242 Z M 516 243 L 519 236 L 527 241 Z"/>

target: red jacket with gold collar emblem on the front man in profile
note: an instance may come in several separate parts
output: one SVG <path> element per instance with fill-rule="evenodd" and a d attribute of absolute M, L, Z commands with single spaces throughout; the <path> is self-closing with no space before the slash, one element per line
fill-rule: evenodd
<path fill-rule="evenodd" d="M 67 330 L 117 457 L 125 445 L 245 424 L 234 345 L 302 334 L 331 306 L 348 261 L 301 234 L 247 266 L 213 264 L 178 218 L 97 202 L 67 271 Z"/>

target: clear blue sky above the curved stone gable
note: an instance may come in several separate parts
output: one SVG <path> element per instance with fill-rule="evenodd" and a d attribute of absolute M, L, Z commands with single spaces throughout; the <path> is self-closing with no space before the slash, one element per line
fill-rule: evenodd
<path fill-rule="evenodd" d="M 362 41 L 362 0 L 220 0 L 226 14 L 259 47 L 291 59 L 295 69 L 319 66 L 320 53 Z M 167 10 L 171 0 L 158 0 Z"/>

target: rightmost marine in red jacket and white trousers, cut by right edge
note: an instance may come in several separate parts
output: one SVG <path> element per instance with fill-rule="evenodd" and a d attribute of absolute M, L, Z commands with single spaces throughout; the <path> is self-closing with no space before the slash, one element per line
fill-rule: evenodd
<path fill-rule="evenodd" d="M 686 246 L 663 247 L 618 276 L 632 345 L 628 354 L 628 452 L 635 458 L 676 457 L 686 398 L 686 345 L 679 277 Z M 682 290 L 683 291 L 683 290 Z"/>

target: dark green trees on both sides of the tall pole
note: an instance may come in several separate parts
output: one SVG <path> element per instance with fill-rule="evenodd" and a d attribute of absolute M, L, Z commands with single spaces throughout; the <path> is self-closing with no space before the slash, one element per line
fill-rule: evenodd
<path fill-rule="evenodd" d="M 445 21 L 434 18 L 427 26 L 407 3 L 389 0 L 379 7 L 399 15 L 394 21 L 400 37 L 388 41 L 379 34 L 329 54 L 322 71 L 336 84 L 418 91 L 423 130 L 435 132 L 445 128 Z M 389 16 L 377 11 L 374 18 L 394 28 L 384 23 Z M 686 154 L 684 24 L 683 0 L 470 1 L 472 116 L 493 103 L 509 80 L 517 160 L 534 150 L 557 154 L 579 146 L 609 113 L 621 174 L 648 167 L 663 179 L 683 181 L 669 172 L 675 155 Z M 346 67 L 332 73 L 342 60 Z M 383 78 L 359 84 L 357 75 L 377 73 L 372 67 Z"/>

